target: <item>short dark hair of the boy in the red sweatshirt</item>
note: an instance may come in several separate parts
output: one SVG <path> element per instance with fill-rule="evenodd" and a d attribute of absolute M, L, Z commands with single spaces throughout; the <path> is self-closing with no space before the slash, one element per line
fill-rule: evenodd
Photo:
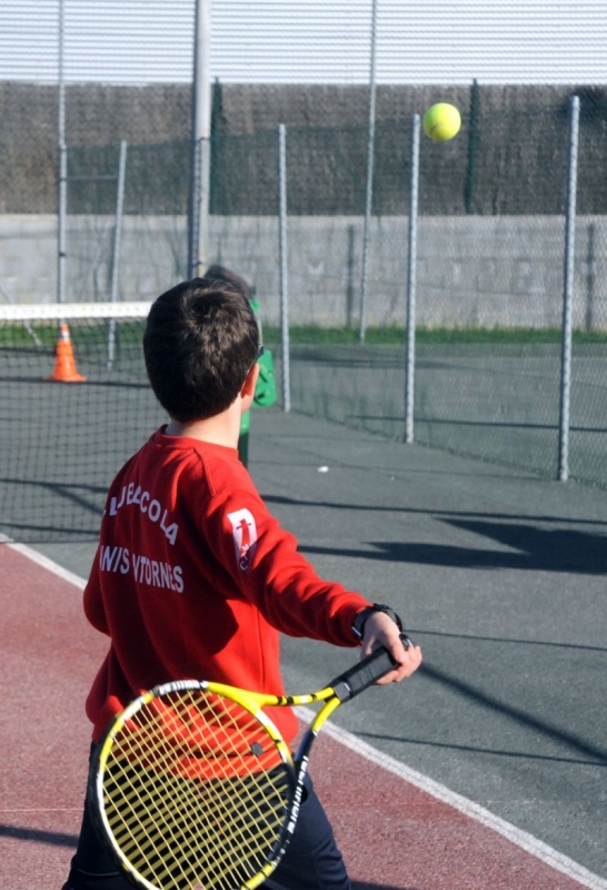
<path fill-rule="evenodd" d="M 152 304 L 143 334 L 156 397 L 179 423 L 220 414 L 232 404 L 259 349 L 259 329 L 241 290 L 195 278 Z"/>

